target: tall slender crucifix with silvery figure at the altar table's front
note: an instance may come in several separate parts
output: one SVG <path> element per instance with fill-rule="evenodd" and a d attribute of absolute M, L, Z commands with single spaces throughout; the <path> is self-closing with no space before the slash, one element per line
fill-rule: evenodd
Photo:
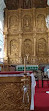
<path fill-rule="evenodd" d="M 26 57 L 24 57 L 24 76 L 23 79 L 23 104 L 24 104 L 24 111 L 28 111 L 28 106 L 29 105 L 29 84 L 28 84 L 28 77 L 26 73 Z"/>

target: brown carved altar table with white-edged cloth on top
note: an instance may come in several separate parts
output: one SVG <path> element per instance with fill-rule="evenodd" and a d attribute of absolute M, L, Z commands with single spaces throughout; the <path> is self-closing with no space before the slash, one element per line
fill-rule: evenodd
<path fill-rule="evenodd" d="M 30 110 L 30 81 L 24 74 L 0 73 L 0 111 Z"/>

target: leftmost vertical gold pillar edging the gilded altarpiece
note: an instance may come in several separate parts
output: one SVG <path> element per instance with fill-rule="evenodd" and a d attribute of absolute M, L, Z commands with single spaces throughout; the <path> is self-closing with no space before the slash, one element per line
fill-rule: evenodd
<path fill-rule="evenodd" d="M 5 9 L 5 20 L 4 20 L 4 62 L 8 63 L 8 51 L 7 51 L 7 34 L 8 34 L 8 27 L 7 27 L 7 20 L 8 20 L 8 10 Z"/>

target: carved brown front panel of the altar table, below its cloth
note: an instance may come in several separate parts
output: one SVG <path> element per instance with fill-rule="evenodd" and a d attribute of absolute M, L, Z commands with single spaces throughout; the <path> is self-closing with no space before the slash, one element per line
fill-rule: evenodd
<path fill-rule="evenodd" d="M 23 86 L 24 81 L 21 82 L 22 77 L 15 77 L 15 82 L 11 82 L 10 79 L 13 81 L 13 77 L 10 79 L 1 78 L 2 81 L 0 82 L 0 111 L 20 111 L 24 110 L 25 107 L 29 110 L 30 108 L 30 77 L 28 79 L 28 94 L 29 94 L 29 103 L 27 103 L 27 98 L 25 98 L 25 103 L 23 102 Z M 8 82 L 5 82 L 7 79 Z M 18 82 L 17 82 L 18 79 Z M 20 81 L 19 81 L 20 80 Z M 26 96 L 25 96 L 26 97 Z"/>

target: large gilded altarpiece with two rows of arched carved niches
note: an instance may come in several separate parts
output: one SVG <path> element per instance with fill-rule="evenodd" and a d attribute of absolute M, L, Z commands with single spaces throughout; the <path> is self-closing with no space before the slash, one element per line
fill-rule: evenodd
<path fill-rule="evenodd" d="M 49 62 L 47 8 L 5 10 L 5 62 L 41 64 Z"/>

